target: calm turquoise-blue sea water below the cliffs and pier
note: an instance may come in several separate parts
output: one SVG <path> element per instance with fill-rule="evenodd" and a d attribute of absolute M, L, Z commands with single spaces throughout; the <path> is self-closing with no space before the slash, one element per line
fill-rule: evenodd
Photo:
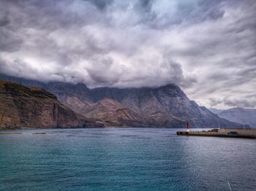
<path fill-rule="evenodd" d="M 0 190 L 256 190 L 256 140 L 174 129 L 0 136 Z M 46 135 L 33 135 L 46 132 Z"/>

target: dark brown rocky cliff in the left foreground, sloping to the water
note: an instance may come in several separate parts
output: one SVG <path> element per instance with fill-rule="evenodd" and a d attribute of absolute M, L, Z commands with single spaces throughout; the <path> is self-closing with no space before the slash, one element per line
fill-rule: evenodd
<path fill-rule="evenodd" d="M 39 87 L 0 80 L 0 129 L 102 127 Z"/>

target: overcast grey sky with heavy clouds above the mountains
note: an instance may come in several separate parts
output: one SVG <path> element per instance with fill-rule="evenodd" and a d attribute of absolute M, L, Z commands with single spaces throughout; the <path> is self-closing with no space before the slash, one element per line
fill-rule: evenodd
<path fill-rule="evenodd" d="M 1 0 L 0 73 L 88 87 L 176 84 L 256 107 L 255 0 Z"/>

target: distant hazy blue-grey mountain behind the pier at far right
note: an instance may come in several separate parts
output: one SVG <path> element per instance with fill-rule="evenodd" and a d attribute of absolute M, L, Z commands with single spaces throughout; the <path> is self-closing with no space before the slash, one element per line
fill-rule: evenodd
<path fill-rule="evenodd" d="M 219 113 L 219 117 L 256 128 L 256 109 L 235 107 Z"/>

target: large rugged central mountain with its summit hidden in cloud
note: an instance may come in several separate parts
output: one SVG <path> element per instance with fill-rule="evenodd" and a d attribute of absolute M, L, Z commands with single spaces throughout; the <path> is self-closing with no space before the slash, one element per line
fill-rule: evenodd
<path fill-rule="evenodd" d="M 4 77 L 3 75 L 0 77 Z M 7 77 L 24 85 L 39 85 L 57 96 L 62 104 L 86 117 L 103 120 L 110 125 L 135 127 L 191 128 L 239 127 L 213 114 L 206 107 L 190 101 L 176 85 L 162 87 L 89 89 L 84 84 L 64 82 L 44 84 L 33 80 Z"/>

